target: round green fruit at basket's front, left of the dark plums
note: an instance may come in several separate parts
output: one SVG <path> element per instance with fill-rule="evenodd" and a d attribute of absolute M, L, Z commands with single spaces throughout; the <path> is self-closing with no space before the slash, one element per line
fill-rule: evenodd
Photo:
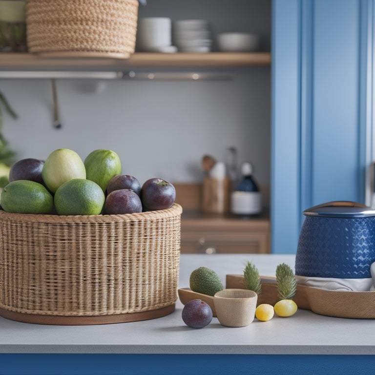
<path fill-rule="evenodd" d="M 75 178 L 64 182 L 56 190 L 54 201 L 58 215 L 99 215 L 105 196 L 95 182 Z"/>

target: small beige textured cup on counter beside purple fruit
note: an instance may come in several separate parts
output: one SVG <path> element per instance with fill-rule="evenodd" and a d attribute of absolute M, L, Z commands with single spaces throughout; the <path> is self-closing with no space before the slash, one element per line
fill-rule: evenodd
<path fill-rule="evenodd" d="M 213 296 L 220 324 L 227 327 L 248 326 L 255 316 L 258 295 L 247 289 L 224 289 Z"/>

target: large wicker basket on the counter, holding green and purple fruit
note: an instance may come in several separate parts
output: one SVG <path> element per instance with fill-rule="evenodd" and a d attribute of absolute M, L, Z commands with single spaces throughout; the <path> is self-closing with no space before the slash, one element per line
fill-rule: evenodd
<path fill-rule="evenodd" d="M 181 206 L 125 215 L 0 210 L 0 315 L 104 324 L 174 311 Z"/>

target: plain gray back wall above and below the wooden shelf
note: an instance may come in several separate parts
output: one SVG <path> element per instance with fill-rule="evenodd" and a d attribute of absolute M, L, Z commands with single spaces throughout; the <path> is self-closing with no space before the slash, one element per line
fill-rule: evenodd
<path fill-rule="evenodd" d="M 185 3 L 191 12 L 194 8 L 194 2 L 190 7 L 189 1 L 149 0 L 145 8 L 140 8 L 140 16 L 148 15 L 146 9 L 152 11 L 157 2 L 171 12 L 175 9 L 168 4 Z M 262 35 L 269 47 L 269 1 L 202 1 L 208 6 L 206 12 L 214 3 L 234 7 L 237 2 L 247 7 L 253 24 L 259 24 L 259 17 L 250 12 L 249 4 L 264 12 L 261 25 L 268 31 L 262 31 Z M 221 31 L 233 30 L 235 20 L 244 19 L 241 8 L 236 11 L 237 18 L 232 18 L 230 27 L 221 21 L 225 28 Z M 172 17 L 167 11 L 162 13 Z M 219 22 L 218 14 L 212 12 L 215 22 Z M 190 16 L 184 15 L 179 18 Z M 246 31 L 244 26 L 237 29 Z M 242 69 L 229 81 L 59 80 L 62 128 L 58 130 L 53 128 L 50 81 L 0 80 L 0 90 L 19 114 L 18 120 L 4 116 L 3 133 L 18 152 L 18 159 L 45 159 L 60 147 L 74 149 L 83 159 L 94 149 L 113 149 L 122 160 L 123 173 L 136 176 L 141 183 L 150 177 L 199 182 L 204 154 L 224 160 L 226 148 L 236 146 L 239 161 L 253 162 L 257 180 L 269 186 L 270 85 L 270 67 Z"/>

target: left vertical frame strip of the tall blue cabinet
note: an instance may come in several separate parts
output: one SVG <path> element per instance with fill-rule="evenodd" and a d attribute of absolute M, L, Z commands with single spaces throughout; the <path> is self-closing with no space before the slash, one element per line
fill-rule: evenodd
<path fill-rule="evenodd" d="M 295 253 L 300 225 L 300 0 L 272 2 L 271 249 Z"/>

